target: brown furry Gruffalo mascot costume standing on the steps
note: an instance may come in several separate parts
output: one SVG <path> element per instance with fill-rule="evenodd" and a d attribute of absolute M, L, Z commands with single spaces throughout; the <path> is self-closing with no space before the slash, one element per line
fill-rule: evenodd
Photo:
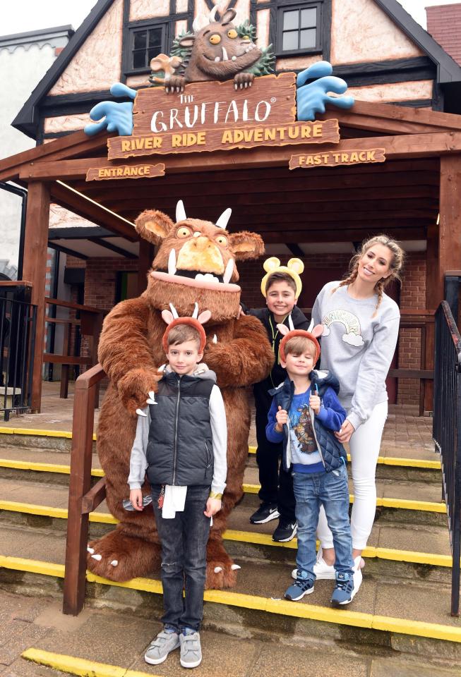
<path fill-rule="evenodd" d="M 129 580 L 160 567 L 160 544 L 152 506 L 142 513 L 122 507 L 128 498 L 131 446 L 136 408 L 145 406 L 149 391 L 157 391 L 157 367 L 162 350 L 162 310 L 173 303 L 180 316 L 192 315 L 198 303 L 209 310 L 208 343 L 203 361 L 217 374 L 227 415 L 227 487 L 222 510 L 213 519 L 208 542 L 208 587 L 228 587 L 236 581 L 232 559 L 222 545 L 227 516 L 242 496 L 248 453 L 249 405 L 244 386 L 264 379 L 273 353 L 263 325 L 255 317 L 239 317 L 240 287 L 236 260 L 263 253 L 255 233 L 228 233 L 227 209 L 216 224 L 187 219 L 182 202 L 176 224 L 157 211 L 143 212 L 136 230 L 160 249 L 148 274 L 148 287 L 139 297 L 122 301 L 104 320 L 99 359 L 110 377 L 101 407 L 97 449 L 106 475 L 107 505 L 120 520 L 116 530 L 90 543 L 88 568 L 112 580 Z M 145 485 L 143 492 L 149 493 Z"/>

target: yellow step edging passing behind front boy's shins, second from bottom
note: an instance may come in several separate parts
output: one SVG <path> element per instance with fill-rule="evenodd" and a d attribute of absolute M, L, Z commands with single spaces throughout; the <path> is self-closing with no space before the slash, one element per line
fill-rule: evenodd
<path fill-rule="evenodd" d="M 0 556 L 0 567 L 1 566 L 16 569 L 18 571 L 30 571 L 32 573 L 42 573 L 44 575 L 57 575 L 59 578 L 64 578 L 64 565 Z M 59 571 L 59 573 L 54 573 L 54 571 Z M 86 580 L 88 580 L 89 583 L 126 587 L 131 590 L 153 592 L 155 594 L 162 593 L 162 583 L 160 583 L 160 580 L 149 578 L 133 578 L 133 580 L 130 580 L 127 583 L 116 583 L 115 581 L 101 578 L 100 576 L 87 571 Z M 246 609 L 257 609 L 266 611 L 270 614 L 294 616 L 296 618 L 309 618 L 313 621 L 338 623 L 340 625 L 354 626 L 357 628 L 371 628 L 374 630 L 383 630 L 384 632 L 416 635 L 417 637 L 446 640 L 448 642 L 461 642 L 461 628 L 443 626 L 440 623 L 409 621 L 405 618 L 393 618 L 391 616 L 375 616 L 374 614 L 365 614 L 361 611 L 333 609 L 326 606 L 305 604 L 304 602 L 288 602 L 285 599 L 271 599 L 269 597 L 259 597 L 258 595 L 229 592 L 227 590 L 205 590 L 203 599 L 205 602 L 244 607 Z"/>

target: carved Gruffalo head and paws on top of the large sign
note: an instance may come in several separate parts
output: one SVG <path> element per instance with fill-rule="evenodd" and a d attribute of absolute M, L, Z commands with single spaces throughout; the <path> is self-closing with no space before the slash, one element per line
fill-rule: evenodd
<path fill-rule="evenodd" d="M 236 88 L 251 87 L 254 75 L 248 71 L 261 58 L 262 52 L 249 35 L 239 36 L 232 20 L 237 12 L 228 9 L 220 21 L 215 20 L 216 6 L 200 26 L 200 18 L 193 23 L 193 35 L 179 40 L 180 47 L 191 48 L 184 75 L 172 75 L 167 90 L 184 89 L 187 83 L 201 83 L 208 80 L 230 80 L 234 78 Z"/>

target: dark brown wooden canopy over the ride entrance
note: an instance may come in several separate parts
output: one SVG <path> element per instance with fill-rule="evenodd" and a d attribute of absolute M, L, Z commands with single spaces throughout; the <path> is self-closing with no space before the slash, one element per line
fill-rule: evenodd
<path fill-rule="evenodd" d="M 339 144 L 151 155 L 149 161 L 165 165 L 165 176 L 153 179 L 85 182 L 90 168 L 139 164 L 139 158 L 109 163 L 104 133 L 72 133 L 1 160 L 0 181 L 29 188 L 23 277 L 32 282 L 37 327 L 50 200 L 132 241 L 137 214 L 155 208 L 173 215 L 180 198 L 189 216 L 212 221 L 232 207 L 231 230 L 249 228 L 266 243 L 354 242 L 383 230 L 400 240 L 428 240 L 426 307 L 435 308 L 445 270 L 461 261 L 461 116 L 356 102 L 351 111 L 331 109 L 323 117 L 339 119 Z M 385 150 L 382 164 L 288 167 L 300 152 L 376 147 Z"/>

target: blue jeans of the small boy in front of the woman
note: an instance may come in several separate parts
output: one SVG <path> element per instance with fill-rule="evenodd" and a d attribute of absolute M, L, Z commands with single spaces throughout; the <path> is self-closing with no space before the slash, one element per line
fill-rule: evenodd
<path fill-rule="evenodd" d="M 298 520 L 297 568 L 301 578 L 315 580 L 316 529 L 320 506 L 325 508 L 333 533 L 335 571 L 352 576 L 352 537 L 349 523 L 349 487 L 344 463 L 330 472 L 294 472 L 294 498 Z"/>

